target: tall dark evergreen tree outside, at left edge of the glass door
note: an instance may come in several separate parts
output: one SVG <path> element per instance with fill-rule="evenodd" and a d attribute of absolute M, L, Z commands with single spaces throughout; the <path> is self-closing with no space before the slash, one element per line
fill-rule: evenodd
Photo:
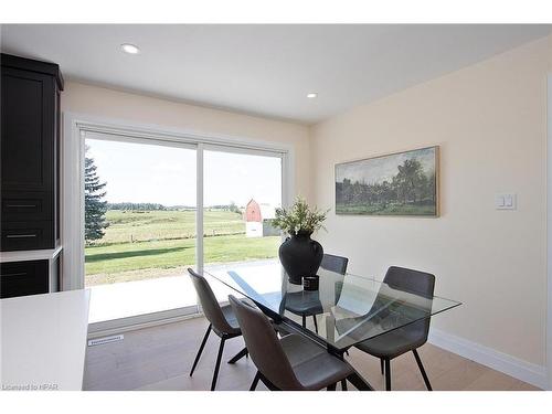
<path fill-rule="evenodd" d="M 86 152 L 88 146 L 86 146 Z M 84 161 L 84 238 L 86 242 L 104 237 L 105 229 L 109 225 L 106 222 L 107 201 L 104 188 L 107 182 L 100 182 L 94 164 L 94 158 L 85 157 Z"/>

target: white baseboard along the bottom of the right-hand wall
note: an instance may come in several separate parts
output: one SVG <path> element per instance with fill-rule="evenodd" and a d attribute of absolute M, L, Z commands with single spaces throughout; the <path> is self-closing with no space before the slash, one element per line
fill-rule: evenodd
<path fill-rule="evenodd" d="M 428 342 L 542 390 L 549 388 L 545 367 L 520 360 L 434 328 L 429 330 Z"/>

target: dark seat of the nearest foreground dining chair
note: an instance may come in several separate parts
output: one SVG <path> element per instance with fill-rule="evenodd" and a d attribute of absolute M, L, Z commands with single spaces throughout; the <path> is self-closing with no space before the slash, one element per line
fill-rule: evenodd
<path fill-rule="evenodd" d="M 307 390 L 321 390 L 352 374 L 352 368 L 300 335 L 280 339 L 297 380 Z"/>

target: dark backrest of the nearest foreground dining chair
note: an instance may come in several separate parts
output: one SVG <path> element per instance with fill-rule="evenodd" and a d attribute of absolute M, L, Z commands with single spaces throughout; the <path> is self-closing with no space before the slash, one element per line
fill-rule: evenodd
<path fill-rule="evenodd" d="M 282 343 L 268 318 L 257 307 L 229 296 L 243 339 L 258 371 L 280 390 L 300 390 Z"/>

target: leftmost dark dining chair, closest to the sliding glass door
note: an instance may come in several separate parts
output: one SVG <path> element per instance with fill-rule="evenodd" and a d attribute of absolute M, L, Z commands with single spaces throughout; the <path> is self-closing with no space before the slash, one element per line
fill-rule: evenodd
<path fill-rule="evenodd" d="M 200 305 L 203 308 L 203 314 L 205 318 L 209 320 L 209 327 L 201 341 L 200 349 L 198 350 L 198 354 L 195 355 L 195 360 L 193 361 L 192 369 L 190 371 L 190 376 L 192 376 L 195 367 L 200 360 L 201 353 L 203 352 L 203 348 L 205 347 L 205 342 L 209 338 L 209 333 L 211 330 L 216 333 L 221 338 L 221 343 L 219 346 L 219 354 L 216 357 L 216 364 L 214 367 L 213 380 L 211 382 L 211 391 L 214 391 L 216 385 L 216 378 L 219 375 L 219 369 L 221 367 L 222 353 L 224 351 L 224 342 L 229 339 L 236 338 L 242 336 L 242 331 L 240 329 L 240 325 L 237 323 L 237 319 L 234 316 L 234 311 L 230 305 L 220 306 L 216 297 L 209 286 L 206 279 L 193 272 L 193 269 L 188 268 L 188 273 L 193 283 L 193 287 L 198 294 Z M 247 357 L 247 348 L 242 349 L 235 357 L 233 357 L 229 363 L 235 363 L 241 358 Z"/>

